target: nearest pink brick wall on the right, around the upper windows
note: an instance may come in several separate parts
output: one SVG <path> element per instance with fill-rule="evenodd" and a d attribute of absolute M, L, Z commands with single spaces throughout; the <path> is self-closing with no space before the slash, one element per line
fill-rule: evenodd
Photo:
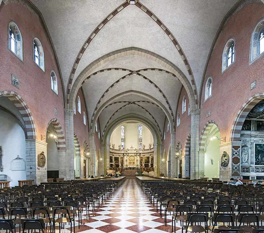
<path fill-rule="evenodd" d="M 221 137 L 226 136 L 228 142 L 240 107 L 250 96 L 263 92 L 264 56 L 262 54 L 252 64 L 249 61 L 251 35 L 263 17 L 263 3 L 246 4 L 230 16 L 224 25 L 202 83 L 200 133 L 208 120 L 214 120 L 219 126 Z M 235 62 L 222 73 L 223 49 L 231 37 L 235 39 Z M 205 84 L 209 76 L 212 76 L 212 96 L 204 101 Z M 257 86 L 250 90 L 250 84 L 255 80 Z M 209 110 L 211 116 L 206 118 Z"/>

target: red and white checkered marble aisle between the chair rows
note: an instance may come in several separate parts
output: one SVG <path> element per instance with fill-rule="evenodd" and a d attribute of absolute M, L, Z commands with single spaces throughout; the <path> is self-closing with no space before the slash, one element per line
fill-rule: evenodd
<path fill-rule="evenodd" d="M 163 212 L 164 213 L 164 212 Z M 125 183 L 107 199 L 103 206 L 96 209 L 94 217 L 83 219 L 81 228 L 76 232 L 85 233 L 165 233 L 171 231 L 171 217 L 164 224 L 164 217 L 156 212 L 156 206 L 150 204 L 148 198 L 136 180 Z M 164 216 L 164 214 L 162 215 Z M 85 217 L 85 216 L 83 216 Z M 75 224 L 76 226 L 76 224 Z M 179 230 L 181 228 L 177 228 Z M 64 230 L 65 233 L 67 230 Z M 181 230 L 179 231 L 181 232 Z"/>

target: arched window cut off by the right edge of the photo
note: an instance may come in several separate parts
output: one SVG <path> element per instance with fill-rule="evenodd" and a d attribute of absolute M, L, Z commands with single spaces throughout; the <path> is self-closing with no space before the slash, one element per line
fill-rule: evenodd
<path fill-rule="evenodd" d="M 252 35 L 251 46 L 251 60 L 253 61 L 264 52 L 264 20 L 255 28 Z"/>

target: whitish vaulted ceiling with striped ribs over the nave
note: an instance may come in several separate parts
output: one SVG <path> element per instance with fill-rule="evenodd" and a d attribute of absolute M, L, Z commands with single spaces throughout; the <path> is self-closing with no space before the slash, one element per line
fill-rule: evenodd
<path fill-rule="evenodd" d="M 90 130 L 97 118 L 104 131 L 119 117 L 134 113 L 162 134 L 166 118 L 175 126 L 182 85 L 197 105 L 215 35 L 237 0 L 138 0 L 136 5 L 127 0 L 31 2 L 54 44 L 68 107 L 69 96 L 82 86 Z M 102 59 L 130 47 L 139 52 Z"/>

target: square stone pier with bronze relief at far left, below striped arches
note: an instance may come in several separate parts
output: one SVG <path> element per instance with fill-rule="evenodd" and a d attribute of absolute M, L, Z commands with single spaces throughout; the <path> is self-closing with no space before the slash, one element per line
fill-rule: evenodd
<path fill-rule="evenodd" d="M 26 174 L 27 180 L 34 184 L 47 181 L 47 157 L 44 167 L 38 166 L 38 154 L 47 156 L 47 143 L 37 139 L 26 139 Z"/>

